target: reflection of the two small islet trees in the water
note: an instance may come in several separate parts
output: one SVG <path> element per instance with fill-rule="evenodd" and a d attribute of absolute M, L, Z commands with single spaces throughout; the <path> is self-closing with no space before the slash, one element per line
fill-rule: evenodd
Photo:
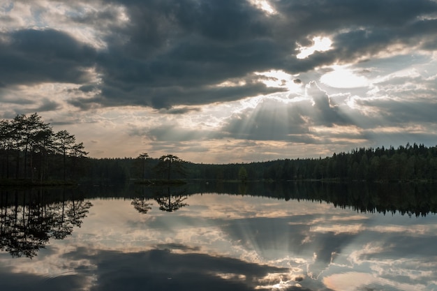
<path fill-rule="evenodd" d="M 184 203 L 184 201 L 188 198 L 186 195 L 187 189 L 176 191 L 174 188 L 166 187 L 166 188 L 156 188 L 154 190 L 154 195 L 152 197 L 136 197 L 133 199 L 131 204 L 138 212 L 142 214 L 147 214 L 147 212 L 151 209 L 151 203 L 148 201 L 154 199 L 158 202 L 159 209 L 162 211 L 172 212 L 177 211 L 182 207 L 187 206 L 188 204 Z"/>

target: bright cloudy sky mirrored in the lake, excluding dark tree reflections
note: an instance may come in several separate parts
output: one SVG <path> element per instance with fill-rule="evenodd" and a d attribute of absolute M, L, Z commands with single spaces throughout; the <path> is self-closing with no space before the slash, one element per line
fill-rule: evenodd
<path fill-rule="evenodd" d="M 129 284 L 149 290 L 178 284 L 179 290 L 424 290 L 437 281 L 435 216 L 358 214 L 329 204 L 228 195 L 193 195 L 187 203 L 168 214 L 155 202 L 140 214 L 131 201 L 96 200 L 72 237 L 33 262 L 6 269 L 11 262 L 0 256 L 1 274 L 21 272 L 29 282 L 53 274 L 49 281 L 65 277 L 94 291 L 129 290 Z"/>

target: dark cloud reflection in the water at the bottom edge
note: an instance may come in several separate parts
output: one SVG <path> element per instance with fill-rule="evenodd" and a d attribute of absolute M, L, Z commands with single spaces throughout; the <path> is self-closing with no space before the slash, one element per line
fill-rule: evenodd
<path fill-rule="evenodd" d="M 87 254 L 87 250 L 78 249 L 69 258 L 77 260 Z M 253 290 L 268 274 L 288 271 L 232 258 L 170 250 L 98 251 L 89 259 L 97 267 L 94 274 L 98 285 L 92 289 L 95 291 L 138 290 L 138 286 L 145 290 Z"/>

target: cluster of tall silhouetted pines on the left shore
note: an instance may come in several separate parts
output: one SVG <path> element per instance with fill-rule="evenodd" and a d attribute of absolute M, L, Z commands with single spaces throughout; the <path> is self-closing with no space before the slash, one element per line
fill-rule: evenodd
<path fill-rule="evenodd" d="M 77 179 L 87 154 L 74 135 L 55 133 L 37 113 L 0 121 L 1 179 Z"/>

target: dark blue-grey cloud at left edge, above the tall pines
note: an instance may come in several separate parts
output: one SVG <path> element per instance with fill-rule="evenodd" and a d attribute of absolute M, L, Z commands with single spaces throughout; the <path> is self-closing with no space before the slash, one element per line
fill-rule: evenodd
<path fill-rule="evenodd" d="M 54 29 L 24 29 L 0 38 L 0 85 L 87 82 L 96 51 Z"/>

